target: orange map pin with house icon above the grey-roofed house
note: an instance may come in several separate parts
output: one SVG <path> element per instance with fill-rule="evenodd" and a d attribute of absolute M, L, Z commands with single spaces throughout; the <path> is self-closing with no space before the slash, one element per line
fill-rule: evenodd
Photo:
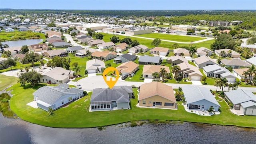
<path fill-rule="evenodd" d="M 102 76 L 106 84 L 108 85 L 108 87 L 112 89 L 116 84 L 116 82 L 118 81 L 119 72 L 114 67 L 108 67 L 104 70 Z"/>

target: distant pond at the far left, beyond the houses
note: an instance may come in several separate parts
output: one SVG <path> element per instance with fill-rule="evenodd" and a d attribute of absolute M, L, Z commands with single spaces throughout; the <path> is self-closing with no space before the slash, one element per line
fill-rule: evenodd
<path fill-rule="evenodd" d="M 13 46 L 24 46 L 24 45 L 31 45 L 31 44 L 38 44 L 42 42 L 43 39 L 29 39 L 29 40 L 12 40 L 12 41 L 6 41 L 1 42 L 2 44 L 8 44 L 10 47 Z"/>

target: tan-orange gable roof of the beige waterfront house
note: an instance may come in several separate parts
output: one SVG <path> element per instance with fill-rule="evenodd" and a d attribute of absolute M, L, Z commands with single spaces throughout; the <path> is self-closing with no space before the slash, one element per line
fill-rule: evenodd
<path fill-rule="evenodd" d="M 162 82 L 150 82 L 147 84 L 142 84 L 140 86 L 140 94 L 138 100 L 143 100 L 145 98 L 156 95 L 176 103 L 172 86 L 167 86 Z"/>

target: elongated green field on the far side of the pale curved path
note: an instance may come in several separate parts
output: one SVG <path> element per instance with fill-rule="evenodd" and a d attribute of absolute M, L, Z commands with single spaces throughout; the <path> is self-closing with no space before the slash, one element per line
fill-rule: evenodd
<path fill-rule="evenodd" d="M 206 38 L 198 38 L 194 36 L 180 36 L 180 35 L 173 35 L 173 34 L 158 34 L 158 33 L 151 33 L 151 34 L 140 34 L 136 35 L 144 38 L 160 38 L 162 40 L 173 40 L 176 42 L 191 42 L 191 41 L 198 41 L 204 40 Z"/>

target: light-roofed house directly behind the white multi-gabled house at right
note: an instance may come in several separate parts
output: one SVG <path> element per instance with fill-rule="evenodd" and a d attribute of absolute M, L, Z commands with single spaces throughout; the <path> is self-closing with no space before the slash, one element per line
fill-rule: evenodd
<path fill-rule="evenodd" d="M 208 56 L 200 56 L 198 58 L 194 58 L 194 64 L 196 67 L 203 68 L 204 66 L 217 64 L 213 59 Z"/>

